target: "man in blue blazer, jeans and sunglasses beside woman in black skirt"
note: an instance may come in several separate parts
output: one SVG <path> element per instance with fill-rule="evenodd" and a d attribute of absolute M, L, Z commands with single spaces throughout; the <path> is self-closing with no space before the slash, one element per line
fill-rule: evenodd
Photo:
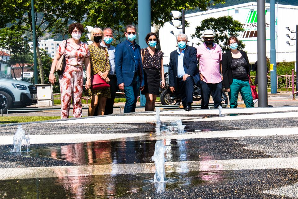
<path fill-rule="evenodd" d="M 136 34 L 136 26 L 127 25 L 124 32 L 126 40 L 118 44 L 115 51 L 116 77 L 126 98 L 124 113 L 135 112 L 139 91 L 144 88 L 141 48 L 134 41 Z"/>

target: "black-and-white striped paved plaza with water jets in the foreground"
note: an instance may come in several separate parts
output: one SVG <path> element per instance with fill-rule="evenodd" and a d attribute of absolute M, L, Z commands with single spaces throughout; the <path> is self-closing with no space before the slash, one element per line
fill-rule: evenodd
<path fill-rule="evenodd" d="M 298 107 L 166 110 L 0 127 L 3 198 L 298 198 Z M 177 133 L 176 121 L 186 125 Z M 165 172 L 152 183 L 155 143 Z"/>

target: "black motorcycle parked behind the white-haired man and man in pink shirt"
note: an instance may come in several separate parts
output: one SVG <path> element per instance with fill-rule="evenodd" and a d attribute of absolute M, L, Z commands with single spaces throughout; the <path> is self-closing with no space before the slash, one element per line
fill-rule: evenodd
<path fill-rule="evenodd" d="M 165 74 L 166 79 L 166 86 L 162 89 L 164 89 L 161 94 L 160 94 L 160 102 L 162 105 L 166 106 L 166 105 L 179 105 L 181 103 L 181 98 L 172 93 L 170 88 L 169 88 L 169 74 L 166 73 Z M 223 89 L 221 91 L 221 103 L 222 104 L 228 104 L 228 96 L 226 95 L 226 93 L 224 92 L 225 90 Z M 199 85 L 194 85 L 193 86 L 193 101 L 199 101 L 201 100 L 201 87 Z"/>

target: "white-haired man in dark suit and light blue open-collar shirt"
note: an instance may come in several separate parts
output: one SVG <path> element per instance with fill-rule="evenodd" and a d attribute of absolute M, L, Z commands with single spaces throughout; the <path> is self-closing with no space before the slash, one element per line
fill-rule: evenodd
<path fill-rule="evenodd" d="M 169 86 L 172 93 L 180 94 L 183 108 L 192 110 L 193 85 L 200 81 L 196 48 L 187 46 L 187 35 L 176 35 L 178 49 L 170 54 Z"/>

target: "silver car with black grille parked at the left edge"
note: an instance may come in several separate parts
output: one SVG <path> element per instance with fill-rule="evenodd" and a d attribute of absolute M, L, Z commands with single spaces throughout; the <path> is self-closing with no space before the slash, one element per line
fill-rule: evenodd
<path fill-rule="evenodd" d="M 0 77 L 0 109 L 22 108 L 37 104 L 36 87 L 28 82 Z"/>

